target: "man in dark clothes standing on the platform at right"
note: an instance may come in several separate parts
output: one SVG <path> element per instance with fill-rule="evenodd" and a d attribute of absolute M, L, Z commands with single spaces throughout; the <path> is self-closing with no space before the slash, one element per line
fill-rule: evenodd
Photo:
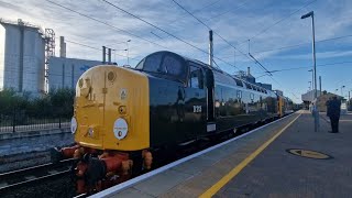
<path fill-rule="evenodd" d="M 339 119 L 340 119 L 341 101 L 337 96 L 333 96 L 331 100 L 327 102 L 327 116 L 331 122 L 331 133 L 339 132 Z"/>

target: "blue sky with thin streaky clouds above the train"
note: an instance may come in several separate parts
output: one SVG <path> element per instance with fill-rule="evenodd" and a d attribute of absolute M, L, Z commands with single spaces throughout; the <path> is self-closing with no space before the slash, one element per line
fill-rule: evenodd
<path fill-rule="evenodd" d="M 78 42 L 98 50 L 67 42 L 67 56 L 101 59 L 102 45 L 116 48 L 119 65 L 127 64 L 125 41 L 129 43 L 130 65 L 134 66 L 145 55 L 168 50 L 208 63 L 208 55 L 139 21 L 101 0 L 53 0 L 64 7 L 103 21 L 116 28 L 89 20 L 46 0 L 0 0 L 0 18 L 22 20 L 54 29 L 56 36 Z M 158 28 L 208 51 L 208 28 L 182 10 L 173 0 L 109 0 L 116 6 L 157 25 Z M 300 102 L 311 80 L 311 19 L 300 15 L 315 11 L 317 75 L 322 78 L 322 89 L 343 95 L 352 90 L 352 1 L 351 0 L 175 0 L 199 20 L 210 26 L 239 51 L 215 35 L 215 56 L 235 65 L 216 61 L 221 69 L 234 74 L 251 67 L 257 81 L 273 84 L 275 89 Z M 121 31 L 123 30 L 123 31 Z M 133 36 L 129 33 L 136 35 Z M 342 37 L 341 37 L 342 36 Z M 144 40 L 152 41 L 155 45 Z M 341 37 L 341 38 L 337 38 Z M 268 70 L 273 78 L 263 76 L 264 70 L 251 54 Z M 334 40 L 330 40 L 334 38 Z M 328 40 L 328 41 L 326 41 Z M 58 43 L 58 40 L 56 40 Z M 297 45 L 295 47 L 287 47 Z M 56 54 L 58 54 L 58 46 Z M 280 48 L 280 50 L 278 50 Z M 235 56 L 234 56 L 235 54 Z M 304 68 L 300 68 L 304 67 Z M 293 69 L 292 69 L 293 68 Z M 299 69 L 295 69 L 299 68 Z"/>

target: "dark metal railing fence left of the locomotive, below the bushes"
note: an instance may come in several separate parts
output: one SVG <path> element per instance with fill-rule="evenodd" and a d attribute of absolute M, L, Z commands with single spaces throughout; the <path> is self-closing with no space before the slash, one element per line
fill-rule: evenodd
<path fill-rule="evenodd" d="M 20 112 L 0 114 L 0 133 L 69 128 L 68 118 L 31 118 Z"/>

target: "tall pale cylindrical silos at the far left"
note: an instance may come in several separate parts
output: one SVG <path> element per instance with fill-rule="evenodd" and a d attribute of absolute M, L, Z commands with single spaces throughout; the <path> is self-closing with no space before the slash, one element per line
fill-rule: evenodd
<path fill-rule="evenodd" d="M 0 90 L 44 91 L 45 35 L 22 20 L 0 19 Z"/>

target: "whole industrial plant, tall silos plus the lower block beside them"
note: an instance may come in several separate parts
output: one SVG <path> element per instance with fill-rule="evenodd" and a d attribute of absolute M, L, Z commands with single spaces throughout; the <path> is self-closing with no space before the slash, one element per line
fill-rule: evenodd
<path fill-rule="evenodd" d="M 66 58 L 66 43 L 59 38 L 55 57 L 55 32 L 43 31 L 19 19 L 0 19 L 0 90 L 31 92 L 33 97 L 50 89 L 75 88 L 80 75 L 101 62 Z"/>

